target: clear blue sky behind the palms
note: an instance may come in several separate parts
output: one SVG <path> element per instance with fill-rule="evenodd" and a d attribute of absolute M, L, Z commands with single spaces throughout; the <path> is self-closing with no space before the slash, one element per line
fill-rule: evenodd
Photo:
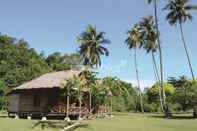
<path fill-rule="evenodd" d="M 191 3 L 197 4 L 196 0 Z M 153 14 L 147 0 L 0 0 L 0 32 L 24 38 L 32 48 L 47 56 L 53 52 L 75 53 L 76 37 L 92 24 L 105 31 L 111 40 L 109 57 L 102 57 L 99 76 L 116 76 L 136 83 L 133 51 L 124 43 L 126 32 L 142 17 Z M 159 26 L 164 55 L 164 76 L 186 75 L 191 78 L 178 26 L 165 21 L 161 10 Z M 183 25 L 194 71 L 197 70 L 197 12 Z M 138 66 L 142 87 L 154 83 L 150 54 L 138 51 Z M 195 72 L 197 73 L 197 72 Z"/>

